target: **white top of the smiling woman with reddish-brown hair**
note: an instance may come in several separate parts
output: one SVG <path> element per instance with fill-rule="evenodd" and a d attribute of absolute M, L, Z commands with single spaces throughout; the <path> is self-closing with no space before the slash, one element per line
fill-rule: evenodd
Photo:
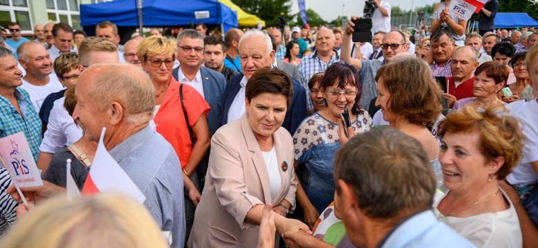
<path fill-rule="evenodd" d="M 437 205 L 441 203 L 446 194 L 435 203 L 433 211 L 435 216 L 440 217 L 439 220 L 442 220 L 477 247 L 522 247 L 521 227 L 519 227 L 519 219 L 514 205 L 502 189 L 499 188 L 499 191 L 508 201 L 510 207 L 497 213 L 479 214 L 466 218 L 444 217 L 437 209 Z"/>

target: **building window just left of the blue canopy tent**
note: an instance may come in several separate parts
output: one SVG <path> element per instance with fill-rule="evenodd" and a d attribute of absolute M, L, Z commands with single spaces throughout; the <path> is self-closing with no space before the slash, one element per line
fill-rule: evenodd
<path fill-rule="evenodd" d="M 51 21 L 68 23 L 76 30 L 81 29 L 78 0 L 47 0 L 47 13 Z"/>

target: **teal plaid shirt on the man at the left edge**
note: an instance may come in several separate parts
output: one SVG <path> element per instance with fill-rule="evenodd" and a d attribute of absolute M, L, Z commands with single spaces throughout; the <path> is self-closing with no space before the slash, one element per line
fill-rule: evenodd
<path fill-rule="evenodd" d="M 0 96 L 0 138 L 24 132 L 34 160 L 37 161 L 39 145 L 41 144 L 41 120 L 37 112 L 35 112 L 30 101 L 30 95 L 26 90 L 17 87 L 14 94 L 19 102 L 22 116 L 9 99 Z"/>

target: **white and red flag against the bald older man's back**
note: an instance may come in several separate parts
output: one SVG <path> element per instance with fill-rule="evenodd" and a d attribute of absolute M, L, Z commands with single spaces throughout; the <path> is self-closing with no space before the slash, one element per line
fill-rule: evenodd
<path fill-rule="evenodd" d="M 106 128 L 103 127 L 97 152 L 88 172 L 86 183 L 82 188 L 83 195 L 98 194 L 100 192 L 122 192 L 135 198 L 139 203 L 146 200 L 140 189 L 131 178 L 121 169 L 118 163 L 110 156 L 103 144 Z"/>

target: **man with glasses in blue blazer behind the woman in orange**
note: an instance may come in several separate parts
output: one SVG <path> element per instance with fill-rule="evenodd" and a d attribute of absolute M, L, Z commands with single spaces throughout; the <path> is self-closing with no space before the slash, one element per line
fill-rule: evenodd
<path fill-rule="evenodd" d="M 203 36 L 197 30 L 183 30 L 177 35 L 177 60 L 179 67 L 172 76 L 179 83 L 194 87 L 211 107 L 207 120 L 212 136 L 219 128 L 222 114 L 222 96 L 226 87 L 223 74 L 202 67 Z"/>

